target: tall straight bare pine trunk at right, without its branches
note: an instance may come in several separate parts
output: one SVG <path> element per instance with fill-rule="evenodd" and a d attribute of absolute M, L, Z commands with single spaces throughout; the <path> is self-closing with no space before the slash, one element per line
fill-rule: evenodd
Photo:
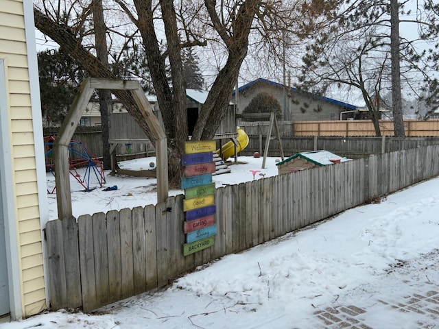
<path fill-rule="evenodd" d="M 392 110 L 395 137 L 404 137 L 403 105 L 401 100 L 401 68 L 399 59 L 399 4 L 390 0 L 390 56 L 392 60 Z"/>

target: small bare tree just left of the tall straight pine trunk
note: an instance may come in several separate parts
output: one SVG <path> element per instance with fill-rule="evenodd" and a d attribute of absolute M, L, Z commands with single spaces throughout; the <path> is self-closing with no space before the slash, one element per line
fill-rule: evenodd
<path fill-rule="evenodd" d="M 337 36 L 312 45 L 302 58 L 298 87 L 324 94 L 331 88 L 348 92 L 359 90 L 369 111 L 375 135 L 381 136 L 380 95 L 390 88 L 390 55 L 376 36 L 375 29 Z"/>

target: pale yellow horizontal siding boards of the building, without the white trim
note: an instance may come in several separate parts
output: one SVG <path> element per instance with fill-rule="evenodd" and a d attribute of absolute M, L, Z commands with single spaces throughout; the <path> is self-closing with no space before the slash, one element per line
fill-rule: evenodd
<path fill-rule="evenodd" d="M 21 270 L 23 317 L 46 308 L 32 108 L 23 1 L 0 1 L 0 58 L 7 67 L 12 173 Z M 34 40 L 30 40 L 34 42 Z"/>

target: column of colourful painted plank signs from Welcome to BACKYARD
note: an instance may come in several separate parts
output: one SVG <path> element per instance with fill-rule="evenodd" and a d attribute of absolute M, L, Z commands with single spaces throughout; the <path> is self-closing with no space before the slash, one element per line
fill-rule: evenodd
<path fill-rule="evenodd" d="M 191 141 L 185 144 L 185 154 L 181 160 L 184 166 L 181 188 L 185 189 L 183 210 L 186 212 L 183 226 L 186 234 L 186 243 L 183 245 L 185 256 L 211 247 L 213 236 L 217 234 L 215 183 L 212 182 L 215 147 L 215 141 Z"/>

